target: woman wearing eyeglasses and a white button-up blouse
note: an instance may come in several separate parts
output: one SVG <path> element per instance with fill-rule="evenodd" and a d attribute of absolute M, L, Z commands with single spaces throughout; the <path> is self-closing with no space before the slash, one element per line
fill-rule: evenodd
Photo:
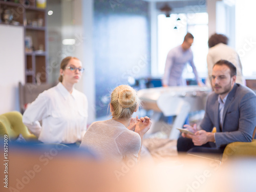
<path fill-rule="evenodd" d="M 74 84 L 83 71 L 78 58 L 64 58 L 57 86 L 39 94 L 28 106 L 23 122 L 39 141 L 70 146 L 81 141 L 87 128 L 88 101 L 86 95 L 74 89 Z"/>

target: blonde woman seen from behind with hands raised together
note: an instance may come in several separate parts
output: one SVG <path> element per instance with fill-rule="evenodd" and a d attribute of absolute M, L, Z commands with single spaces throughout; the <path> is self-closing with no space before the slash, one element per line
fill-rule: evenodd
<path fill-rule="evenodd" d="M 122 161 L 138 159 L 142 139 L 152 124 L 150 118 L 132 118 L 139 108 L 140 100 L 133 88 L 118 86 L 111 94 L 112 119 L 97 121 L 84 134 L 80 147 L 87 146 L 105 160 Z"/>

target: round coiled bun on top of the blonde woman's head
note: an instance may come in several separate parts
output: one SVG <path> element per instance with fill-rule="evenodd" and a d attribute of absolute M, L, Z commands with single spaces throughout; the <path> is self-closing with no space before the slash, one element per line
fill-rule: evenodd
<path fill-rule="evenodd" d="M 123 108 L 131 108 L 136 102 L 136 93 L 130 89 L 118 92 L 118 101 Z"/>

